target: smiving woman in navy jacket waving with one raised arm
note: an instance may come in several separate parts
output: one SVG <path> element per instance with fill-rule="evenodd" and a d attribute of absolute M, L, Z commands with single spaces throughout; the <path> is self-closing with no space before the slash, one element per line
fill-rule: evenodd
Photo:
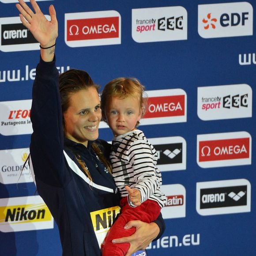
<path fill-rule="evenodd" d="M 108 144 L 97 140 L 102 117 L 98 87 L 83 71 L 71 70 L 59 78 L 56 12 L 51 5 L 49 22 L 35 0 L 30 3 L 35 13 L 23 0 L 16 4 L 23 25 L 41 48 L 32 96 L 30 169 L 59 227 L 63 255 L 99 256 L 99 245 L 118 215 L 120 197 L 100 152 L 107 156 Z M 128 222 L 126 228 L 134 226 L 136 233 L 115 242 L 130 243 L 131 255 L 164 230 L 161 217 L 157 223 Z"/>

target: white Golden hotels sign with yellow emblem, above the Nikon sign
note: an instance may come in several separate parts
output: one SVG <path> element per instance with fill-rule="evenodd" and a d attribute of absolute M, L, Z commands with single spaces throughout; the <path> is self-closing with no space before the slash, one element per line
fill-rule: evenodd
<path fill-rule="evenodd" d="M 28 148 L 1 150 L 0 182 L 2 184 L 17 184 L 33 182 L 28 164 L 24 163 L 29 155 Z"/>

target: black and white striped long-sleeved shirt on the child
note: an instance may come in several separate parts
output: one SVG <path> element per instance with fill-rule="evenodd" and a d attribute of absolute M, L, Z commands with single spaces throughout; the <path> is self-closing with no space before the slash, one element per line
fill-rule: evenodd
<path fill-rule="evenodd" d="M 157 159 L 157 151 L 142 131 L 136 129 L 114 137 L 110 161 L 121 196 L 128 196 L 124 188 L 128 185 L 140 191 L 141 203 L 151 199 L 164 207 L 166 196 L 160 191 L 162 177 L 156 166 Z M 129 204 L 135 207 L 132 202 Z"/>

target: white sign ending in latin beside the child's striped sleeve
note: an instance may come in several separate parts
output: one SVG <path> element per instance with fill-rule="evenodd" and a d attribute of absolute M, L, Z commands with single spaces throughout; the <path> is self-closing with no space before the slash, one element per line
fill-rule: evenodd
<path fill-rule="evenodd" d="M 166 205 L 161 213 L 164 219 L 186 217 L 186 189 L 181 184 L 162 185 Z"/>

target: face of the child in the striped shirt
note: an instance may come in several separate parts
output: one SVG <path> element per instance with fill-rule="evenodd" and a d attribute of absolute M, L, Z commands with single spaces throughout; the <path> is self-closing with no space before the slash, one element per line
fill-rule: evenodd
<path fill-rule="evenodd" d="M 114 136 L 132 131 L 141 118 L 139 99 L 135 97 L 109 100 L 105 109 L 106 119 Z"/>

